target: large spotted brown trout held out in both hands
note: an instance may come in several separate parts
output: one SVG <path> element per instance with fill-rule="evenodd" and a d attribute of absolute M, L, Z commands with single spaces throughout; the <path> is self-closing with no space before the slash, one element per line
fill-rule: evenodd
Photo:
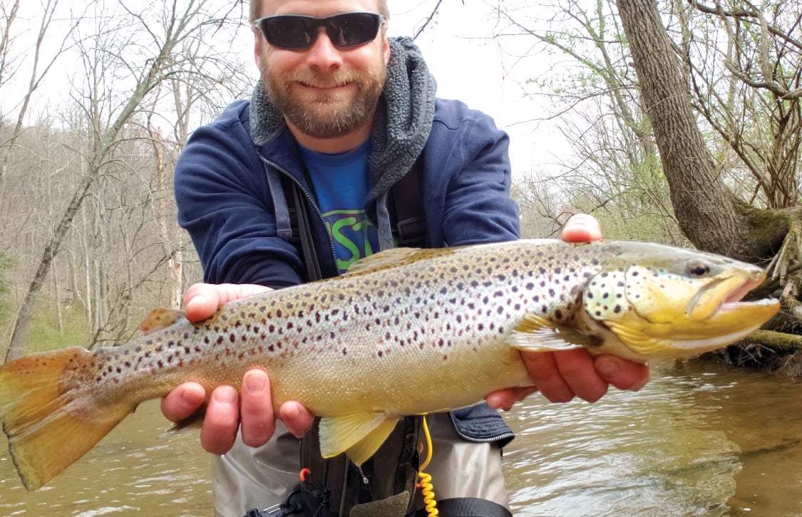
<path fill-rule="evenodd" d="M 124 345 L 0 366 L 0 421 L 28 490 L 59 475 L 140 403 L 182 382 L 269 374 L 275 409 L 321 418 L 321 453 L 370 458 L 404 415 L 531 386 L 521 351 L 583 347 L 634 361 L 688 357 L 764 325 L 744 301 L 763 269 L 662 244 L 516 240 L 394 248 L 349 273 L 221 305 L 190 322 L 155 309 Z"/>

